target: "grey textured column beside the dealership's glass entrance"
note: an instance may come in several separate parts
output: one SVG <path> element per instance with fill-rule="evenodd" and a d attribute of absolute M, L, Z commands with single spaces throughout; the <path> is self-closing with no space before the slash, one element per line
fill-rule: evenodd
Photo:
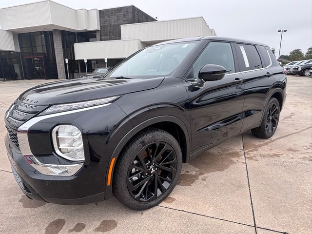
<path fill-rule="evenodd" d="M 58 29 L 53 29 L 52 32 L 53 32 L 55 59 L 57 62 L 57 69 L 58 69 L 58 77 L 59 79 L 66 79 L 63 46 L 62 46 L 62 36 L 61 36 L 60 30 Z"/>

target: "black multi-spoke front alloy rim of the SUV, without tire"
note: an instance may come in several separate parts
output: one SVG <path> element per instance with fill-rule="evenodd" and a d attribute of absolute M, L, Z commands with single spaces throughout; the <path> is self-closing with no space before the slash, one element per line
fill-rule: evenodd
<path fill-rule="evenodd" d="M 144 146 L 128 169 L 129 193 L 140 202 L 153 201 L 163 195 L 176 176 L 176 153 L 166 142 Z"/>

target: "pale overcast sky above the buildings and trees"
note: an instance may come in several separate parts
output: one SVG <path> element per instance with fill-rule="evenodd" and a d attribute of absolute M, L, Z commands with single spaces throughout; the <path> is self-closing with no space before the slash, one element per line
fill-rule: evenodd
<path fill-rule="evenodd" d="M 0 7 L 39 0 L 0 0 Z M 74 9 L 105 9 L 135 5 L 157 20 L 203 16 L 217 36 L 250 39 L 268 44 L 278 54 L 312 46 L 312 0 L 54 0 Z"/>

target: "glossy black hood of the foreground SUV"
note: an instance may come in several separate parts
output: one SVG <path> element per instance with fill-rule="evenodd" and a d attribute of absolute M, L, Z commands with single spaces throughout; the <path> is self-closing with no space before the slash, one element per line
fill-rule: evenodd
<path fill-rule="evenodd" d="M 154 89 L 159 78 L 78 78 L 42 84 L 22 93 L 19 99 L 28 104 L 51 105 L 78 102 Z"/>

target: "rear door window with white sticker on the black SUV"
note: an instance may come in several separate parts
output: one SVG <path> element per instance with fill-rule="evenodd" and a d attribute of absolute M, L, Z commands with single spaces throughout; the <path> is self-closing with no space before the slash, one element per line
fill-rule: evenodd
<path fill-rule="evenodd" d="M 235 46 L 241 71 L 262 68 L 259 53 L 254 45 L 235 44 Z"/>

